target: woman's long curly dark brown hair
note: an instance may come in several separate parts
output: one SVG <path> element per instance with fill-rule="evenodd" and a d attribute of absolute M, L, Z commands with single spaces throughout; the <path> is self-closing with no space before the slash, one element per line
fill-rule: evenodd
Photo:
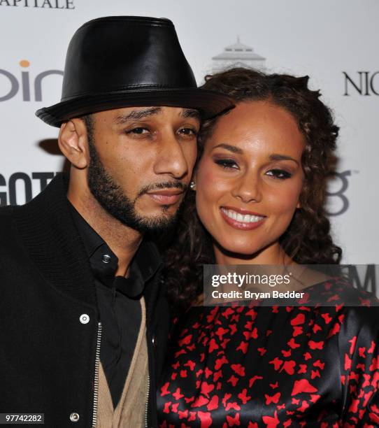
<path fill-rule="evenodd" d="M 223 92 L 235 104 L 267 100 L 285 108 L 296 119 L 306 141 L 301 158 L 304 173 L 301 208 L 280 237 L 280 245 L 299 264 L 339 264 L 342 251 L 331 239 L 324 211 L 327 178 L 336 163 L 338 127 L 329 108 L 320 101 L 320 91 L 308 88 L 308 76 L 296 78 L 243 68 L 206 76 L 203 89 Z M 198 159 L 220 117 L 203 123 Z M 189 192 L 183 202 L 183 216 L 175 240 L 166 251 L 165 262 L 164 282 L 171 306 L 178 312 L 201 294 L 202 265 L 215 263 L 210 236 L 196 215 L 194 192 Z"/>

